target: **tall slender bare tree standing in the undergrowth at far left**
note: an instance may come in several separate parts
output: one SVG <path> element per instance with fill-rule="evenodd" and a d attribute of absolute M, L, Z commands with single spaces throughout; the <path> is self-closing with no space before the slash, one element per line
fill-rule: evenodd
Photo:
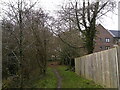
<path fill-rule="evenodd" d="M 24 82 L 24 74 L 26 73 L 25 68 L 25 62 L 27 59 L 25 59 L 25 49 L 26 47 L 30 46 L 30 43 L 26 45 L 26 41 L 28 41 L 28 38 L 26 38 L 26 32 L 29 33 L 30 31 L 26 30 L 26 20 L 27 20 L 27 15 L 30 13 L 30 10 L 35 6 L 37 2 L 28 5 L 24 0 L 18 0 L 17 2 L 8 2 L 5 3 L 7 6 L 7 10 L 4 10 L 5 12 L 5 20 L 6 23 L 3 23 L 3 25 L 6 27 L 6 24 L 8 23 L 7 27 L 4 28 L 3 30 L 7 30 L 11 33 L 10 36 L 8 36 L 9 40 L 15 40 L 14 44 L 10 45 L 9 43 L 6 45 L 8 46 L 9 52 L 12 52 L 14 56 L 16 57 L 16 60 L 18 60 L 18 75 L 19 75 L 19 80 L 20 80 L 20 88 L 23 87 L 23 82 Z M 3 31 L 3 32 L 4 32 Z M 16 44 L 15 44 L 16 43 Z M 34 44 L 34 43 L 32 43 Z M 11 48 L 12 46 L 12 48 Z M 15 47 L 14 47 L 15 46 Z M 4 48 L 4 47 L 3 47 Z M 9 49 L 11 48 L 11 49 Z M 17 52 L 17 53 L 15 53 Z M 8 52 L 6 53 L 6 55 Z M 32 57 L 31 57 L 32 58 Z M 30 58 L 29 58 L 30 59 Z M 29 77 L 29 76 L 27 76 Z"/>

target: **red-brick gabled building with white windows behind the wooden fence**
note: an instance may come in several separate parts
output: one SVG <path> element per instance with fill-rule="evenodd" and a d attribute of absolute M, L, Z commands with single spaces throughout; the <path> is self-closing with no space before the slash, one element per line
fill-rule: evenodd
<path fill-rule="evenodd" d="M 115 45 L 120 45 L 120 31 L 107 30 L 101 24 L 96 29 L 97 35 L 94 52 L 107 50 L 113 48 Z"/>

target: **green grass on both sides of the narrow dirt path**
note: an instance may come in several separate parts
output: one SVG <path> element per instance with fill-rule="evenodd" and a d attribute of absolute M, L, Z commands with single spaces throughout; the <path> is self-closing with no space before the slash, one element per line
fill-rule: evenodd
<path fill-rule="evenodd" d="M 66 66 L 58 66 L 56 69 L 62 77 L 62 88 L 103 88 L 91 80 L 80 77 L 75 72 L 65 71 Z M 53 68 L 48 67 L 46 76 L 32 81 L 32 88 L 57 88 L 57 77 Z"/>

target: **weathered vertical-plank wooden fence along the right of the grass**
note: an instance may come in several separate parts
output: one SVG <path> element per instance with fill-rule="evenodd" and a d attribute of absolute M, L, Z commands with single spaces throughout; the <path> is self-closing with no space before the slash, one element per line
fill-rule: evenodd
<path fill-rule="evenodd" d="M 119 88 L 120 47 L 75 58 L 75 72 L 107 88 Z"/>

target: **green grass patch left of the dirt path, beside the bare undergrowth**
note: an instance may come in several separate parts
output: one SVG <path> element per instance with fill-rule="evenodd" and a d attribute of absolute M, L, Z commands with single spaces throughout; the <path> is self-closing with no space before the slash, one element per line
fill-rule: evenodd
<path fill-rule="evenodd" d="M 37 80 L 33 87 L 35 88 L 57 88 L 57 78 L 52 71 L 52 68 L 47 69 L 47 74 L 40 80 Z"/>

